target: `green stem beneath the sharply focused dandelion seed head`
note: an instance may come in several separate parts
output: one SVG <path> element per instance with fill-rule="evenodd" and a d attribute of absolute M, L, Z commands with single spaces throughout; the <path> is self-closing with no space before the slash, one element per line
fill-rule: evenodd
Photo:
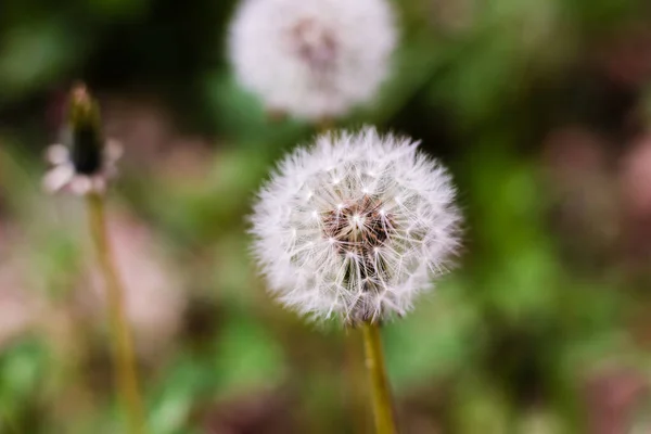
<path fill-rule="evenodd" d="M 373 416 L 378 434 L 396 434 L 391 387 L 386 375 L 380 326 L 376 322 L 365 321 L 361 326 L 366 366 L 371 383 Z"/>

